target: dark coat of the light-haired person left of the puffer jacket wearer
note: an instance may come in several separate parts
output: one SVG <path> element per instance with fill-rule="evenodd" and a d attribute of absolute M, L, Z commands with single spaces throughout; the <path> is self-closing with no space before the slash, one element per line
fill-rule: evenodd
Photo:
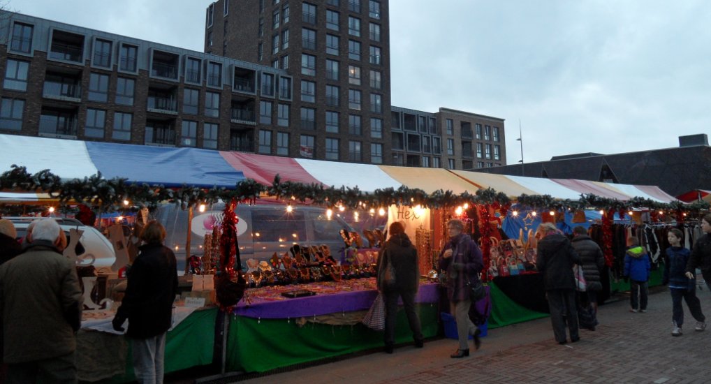
<path fill-rule="evenodd" d="M 570 240 L 560 233 L 552 233 L 538 242 L 536 267 L 543 274 L 543 288 L 575 289 L 573 264 L 580 257 L 570 245 Z"/>

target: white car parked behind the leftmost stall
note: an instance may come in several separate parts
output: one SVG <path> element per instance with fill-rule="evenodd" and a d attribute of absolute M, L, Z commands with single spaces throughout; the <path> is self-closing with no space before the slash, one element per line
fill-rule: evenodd
<path fill-rule="evenodd" d="M 33 218 L 33 217 L 4 217 L 10 220 L 17 230 L 18 239 L 24 238 L 27 233 L 27 227 L 34 220 L 56 220 L 60 228 L 67 235 L 67 241 L 70 243 L 70 229 L 82 230 L 82 236 L 77 242 L 75 252 L 79 257 L 77 265 L 93 265 L 98 273 L 111 273 L 112 265 L 116 260 L 114 248 L 111 242 L 102 235 L 102 233 L 94 227 L 84 225 L 79 220 L 73 218 Z M 90 264 L 91 260 L 94 260 Z M 114 267 L 118 270 L 118 267 Z M 113 270 L 115 272 L 115 270 Z"/>

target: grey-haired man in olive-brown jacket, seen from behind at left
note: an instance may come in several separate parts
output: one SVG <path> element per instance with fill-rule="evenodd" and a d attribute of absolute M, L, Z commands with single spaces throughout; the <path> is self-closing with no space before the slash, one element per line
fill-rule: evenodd
<path fill-rule="evenodd" d="M 76 383 L 82 291 L 64 257 L 60 227 L 40 220 L 24 252 L 0 266 L 0 319 L 7 383 Z"/>

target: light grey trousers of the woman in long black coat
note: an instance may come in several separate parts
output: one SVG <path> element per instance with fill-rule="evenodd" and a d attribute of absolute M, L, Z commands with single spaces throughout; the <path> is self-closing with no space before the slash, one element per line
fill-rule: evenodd
<path fill-rule="evenodd" d="M 149 338 L 133 338 L 131 345 L 136 380 L 141 384 L 162 384 L 166 334 Z"/>

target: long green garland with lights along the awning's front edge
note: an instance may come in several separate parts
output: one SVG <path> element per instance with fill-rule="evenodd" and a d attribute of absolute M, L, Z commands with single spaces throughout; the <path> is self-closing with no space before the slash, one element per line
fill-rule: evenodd
<path fill-rule="evenodd" d="M 102 178 L 97 173 L 83 179 L 75 178 L 62 181 L 48 170 L 29 174 L 26 167 L 13 165 L 10 171 L 0 176 L 0 191 L 43 191 L 59 198 L 64 206 L 74 201 L 87 206 L 98 206 L 100 210 L 125 210 L 124 200 L 132 206 L 156 208 L 159 203 L 172 202 L 181 208 L 194 207 L 201 203 L 215 203 L 218 200 L 255 203 L 260 196 L 271 196 L 284 201 L 299 201 L 315 203 L 321 206 L 344 206 L 346 208 L 380 208 L 391 205 L 421 205 L 424 208 L 447 208 L 461 206 L 464 203 L 493 204 L 507 206 L 512 203 L 506 193 L 497 192 L 492 188 L 479 189 L 475 194 L 468 192 L 457 195 L 452 191 L 439 189 L 426 193 L 422 189 L 383 188 L 372 193 L 360 191 L 358 187 L 336 188 L 317 183 L 294 183 L 283 181 L 279 175 L 274 177 L 271 186 L 264 186 L 251 178 L 235 183 L 235 188 L 198 188 L 183 185 L 180 188 L 166 188 L 163 185 L 146 183 L 129 183 L 126 178 Z M 586 208 L 625 211 L 631 208 L 650 208 L 653 210 L 690 211 L 698 213 L 708 210 L 709 203 L 697 201 L 685 204 L 680 201 L 659 203 L 648 198 L 634 197 L 628 201 L 602 198 L 592 194 L 582 194 L 580 199 L 557 199 L 550 195 L 521 195 L 515 201 L 534 209 L 545 210 L 579 210 Z"/>

